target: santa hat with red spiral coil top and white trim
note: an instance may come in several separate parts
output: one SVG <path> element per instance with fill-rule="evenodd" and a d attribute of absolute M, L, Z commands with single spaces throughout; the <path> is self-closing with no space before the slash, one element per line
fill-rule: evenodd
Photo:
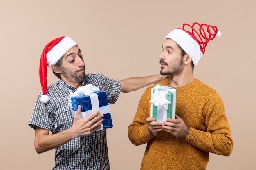
<path fill-rule="evenodd" d="M 185 27 L 188 27 L 187 30 Z M 221 32 L 216 26 L 195 22 L 192 26 L 183 24 L 182 28 L 174 29 L 165 36 L 164 40 L 169 38 L 175 41 L 191 57 L 196 66 L 205 52 L 207 43 L 220 35 Z"/>

